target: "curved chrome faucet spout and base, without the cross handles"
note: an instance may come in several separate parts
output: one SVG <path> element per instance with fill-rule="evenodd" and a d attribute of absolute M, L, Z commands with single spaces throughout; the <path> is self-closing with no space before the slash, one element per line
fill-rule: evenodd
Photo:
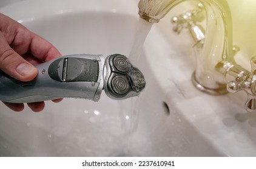
<path fill-rule="evenodd" d="M 173 7 L 189 0 L 140 0 L 139 14 L 147 22 L 157 23 Z M 234 60 L 232 44 L 232 19 L 226 0 L 198 0 L 207 13 L 207 25 L 204 44 L 197 53 L 197 66 L 194 72 L 194 84 L 201 91 L 220 95 L 227 93 L 226 77 L 231 68 L 237 65 Z M 219 63 L 223 63 L 222 65 Z M 220 65 L 222 67 L 220 67 Z M 248 71 L 244 71 L 248 72 Z"/>

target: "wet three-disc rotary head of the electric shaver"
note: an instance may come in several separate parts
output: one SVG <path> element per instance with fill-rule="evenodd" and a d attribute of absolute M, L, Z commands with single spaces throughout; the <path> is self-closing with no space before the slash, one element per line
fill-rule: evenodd
<path fill-rule="evenodd" d="M 106 58 L 104 64 L 104 91 L 115 100 L 140 95 L 146 81 L 141 71 L 132 66 L 130 60 L 121 54 Z"/>

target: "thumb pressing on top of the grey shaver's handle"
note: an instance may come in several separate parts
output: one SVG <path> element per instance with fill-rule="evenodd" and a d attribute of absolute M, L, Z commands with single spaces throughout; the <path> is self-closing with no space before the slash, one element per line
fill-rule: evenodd
<path fill-rule="evenodd" d="M 0 69 L 13 78 L 30 81 L 38 74 L 37 69 L 10 46 L 0 51 Z"/>

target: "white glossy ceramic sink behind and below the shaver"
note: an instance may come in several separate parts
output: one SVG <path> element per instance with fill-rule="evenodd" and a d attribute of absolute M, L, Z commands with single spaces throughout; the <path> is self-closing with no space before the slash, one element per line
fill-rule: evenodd
<path fill-rule="evenodd" d="M 26 0 L 0 12 L 63 55 L 129 56 L 137 4 Z M 170 31 L 169 18 L 153 25 L 144 43 L 137 66 L 147 86 L 140 97 L 65 98 L 47 101 L 40 113 L 27 107 L 16 113 L 1 103 L 0 156 L 255 156 L 256 116 L 243 109 L 245 95 L 213 97 L 194 88 L 191 44 Z"/>

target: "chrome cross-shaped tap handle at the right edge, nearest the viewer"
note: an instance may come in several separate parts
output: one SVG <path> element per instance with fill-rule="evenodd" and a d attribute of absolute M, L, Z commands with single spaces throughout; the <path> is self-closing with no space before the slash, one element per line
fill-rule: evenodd
<path fill-rule="evenodd" d="M 248 112 L 256 110 L 256 57 L 252 57 L 251 67 L 251 72 L 244 80 L 227 83 L 227 91 L 235 93 L 243 90 L 248 94 L 248 99 L 244 105 Z"/>

